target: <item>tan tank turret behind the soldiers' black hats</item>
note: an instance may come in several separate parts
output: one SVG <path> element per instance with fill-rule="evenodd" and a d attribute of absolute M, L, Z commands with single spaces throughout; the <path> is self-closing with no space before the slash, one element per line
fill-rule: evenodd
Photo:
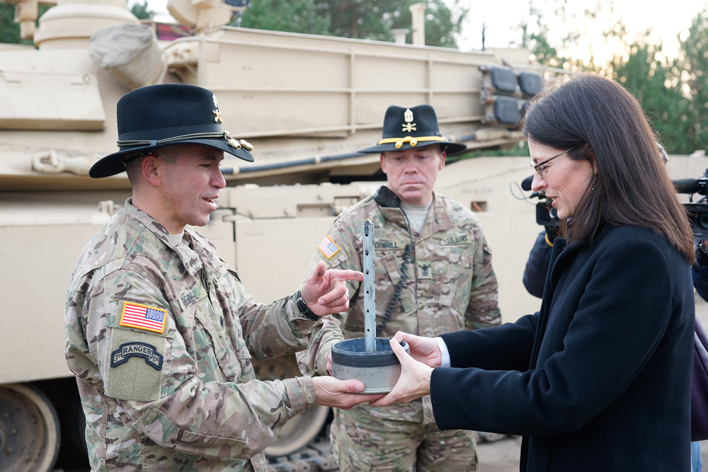
<path fill-rule="evenodd" d="M 27 1 L 18 8 L 28 11 Z M 390 103 L 433 104 L 451 139 L 472 149 L 511 146 L 533 93 L 517 77 L 544 81 L 527 52 L 506 67 L 501 52 L 222 26 L 236 7 L 219 2 L 168 8 L 193 28 L 179 30 L 185 36 L 160 39 L 163 25 L 139 23 L 122 0 L 59 0 L 40 18 L 37 50 L 0 52 L 0 187 L 127 188 L 123 177 L 97 184 L 76 163 L 115 150 L 115 103 L 148 84 L 215 91 L 225 129 L 256 154 L 251 166 L 224 163 L 227 179 L 272 184 L 377 171 L 377 156 L 355 150 L 380 134 Z"/>

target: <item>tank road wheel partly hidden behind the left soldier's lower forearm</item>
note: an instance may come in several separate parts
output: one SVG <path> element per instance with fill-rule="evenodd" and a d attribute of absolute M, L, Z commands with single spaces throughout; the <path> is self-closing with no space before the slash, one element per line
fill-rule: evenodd
<path fill-rule="evenodd" d="M 297 369 L 294 355 L 268 359 L 255 364 L 254 367 L 260 380 L 292 379 L 302 375 Z M 295 416 L 280 429 L 273 442 L 265 449 L 265 456 L 289 456 L 314 441 L 327 422 L 328 415 L 329 407 L 317 405 Z"/>

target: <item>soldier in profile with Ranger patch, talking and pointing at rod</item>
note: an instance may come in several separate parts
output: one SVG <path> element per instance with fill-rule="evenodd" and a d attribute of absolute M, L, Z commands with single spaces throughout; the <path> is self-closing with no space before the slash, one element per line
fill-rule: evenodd
<path fill-rule="evenodd" d="M 79 256 L 64 317 L 93 471 L 265 472 L 263 450 L 297 413 L 379 397 L 333 377 L 256 380 L 251 357 L 306 347 L 321 316 L 346 311 L 345 281 L 363 275 L 323 263 L 297 294 L 258 304 L 195 231 L 217 208 L 224 152 L 253 161 L 222 130 L 213 93 L 127 93 L 118 146 L 90 175 L 127 171 L 132 198 Z"/>

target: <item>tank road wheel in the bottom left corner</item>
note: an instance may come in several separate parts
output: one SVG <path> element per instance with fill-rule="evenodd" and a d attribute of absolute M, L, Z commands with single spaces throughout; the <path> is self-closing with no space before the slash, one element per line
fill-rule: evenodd
<path fill-rule="evenodd" d="M 0 386 L 0 471 L 51 471 L 60 434 L 57 412 L 38 388 Z"/>

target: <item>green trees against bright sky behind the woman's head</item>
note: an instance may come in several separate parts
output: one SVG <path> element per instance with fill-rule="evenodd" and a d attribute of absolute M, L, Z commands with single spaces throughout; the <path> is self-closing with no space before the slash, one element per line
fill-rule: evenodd
<path fill-rule="evenodd" d="M 591 70 L 619 81 L 641 103 L 658 139 L 673 154 L 690 154 L 708 148 L 708 11 L 699 13 L 681 40 L 680 56 L 669 59 L 661 45 L 649 41 L 651 31 L 629 35 L 626 25 L 612 12 L 612 4 L 586 11 L 586 19 L 597 25 L 605 21 L 603 36 L 613 54 L 608 61 L 595 57 L 581 62 L 564 57 L 549 39 L 553 21 L 565 24 L 564 0 L 554 1 L 554 16 L 530 7 L 529 20 L 520 25 L 522 44 L 530 47 L 537 61 L 550 67 Z M 609 8 L 605 11 L 603 8 Z M 579 48 L 578 35 L 561 38 L 565 54 Z"/>

